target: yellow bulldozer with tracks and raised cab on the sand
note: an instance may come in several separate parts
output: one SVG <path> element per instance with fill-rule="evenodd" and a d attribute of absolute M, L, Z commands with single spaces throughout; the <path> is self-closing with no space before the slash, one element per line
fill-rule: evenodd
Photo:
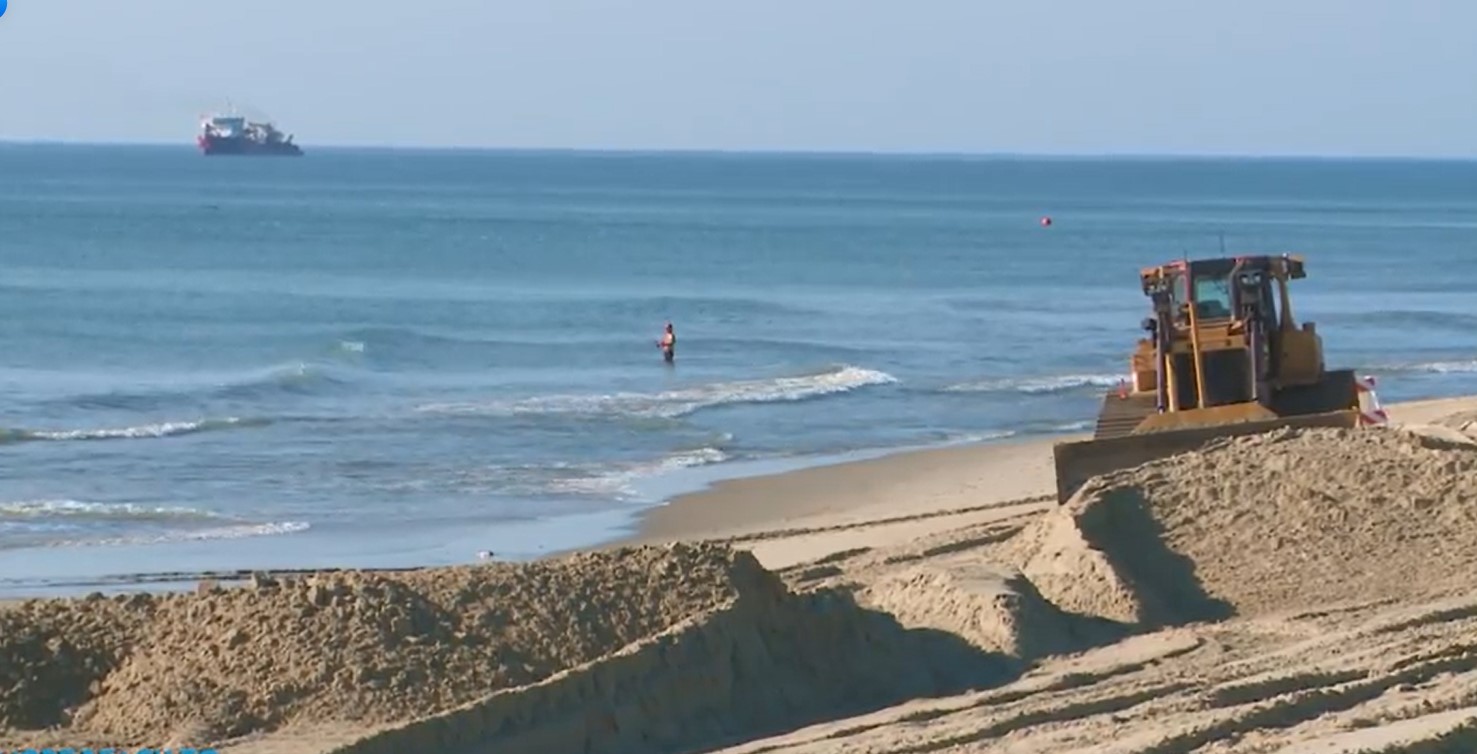
<path fill-rule="evenodd" d="M 1226 436 L 1363 426 L 1353 370 L 1323 365 L 1313 322 L 1292 318 L 1294 254 L 1183 259 L 1139 271 L 1152 315 L 1128 378 L 1102 399 L 1092 439 L 1053 448 L 1058 503 L 1090 478 Z"/>

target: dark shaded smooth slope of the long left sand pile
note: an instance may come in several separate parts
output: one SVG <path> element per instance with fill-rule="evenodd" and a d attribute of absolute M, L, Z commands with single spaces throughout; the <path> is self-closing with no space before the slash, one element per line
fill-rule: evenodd
<path fill-rule="evenodd" d="M 332 754 L 713 751 L 993 686 L 1015 670 L 950 633 L 904 628 L 840 590 L 749 593 L 600 661 Z"/>

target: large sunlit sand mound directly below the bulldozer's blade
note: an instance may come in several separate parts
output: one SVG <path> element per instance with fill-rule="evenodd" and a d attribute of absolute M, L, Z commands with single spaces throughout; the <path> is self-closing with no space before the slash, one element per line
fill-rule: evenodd
<path fill-rule="evenodd" d="M 1477 446 L 1282 430 L 1094 478 L 1004 547 L 1055 605 L 1158 625 L 1477 581 Z"/>

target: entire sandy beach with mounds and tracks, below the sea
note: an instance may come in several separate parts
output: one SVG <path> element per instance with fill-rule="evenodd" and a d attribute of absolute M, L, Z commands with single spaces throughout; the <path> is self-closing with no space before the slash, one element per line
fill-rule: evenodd
<path fill-rule="evenodd" d="M 1050 442 L 730 480 L 535 563 L 0 612 L 0 748 L 1477 750 L 1477 399 L 1050 497 Z"/>

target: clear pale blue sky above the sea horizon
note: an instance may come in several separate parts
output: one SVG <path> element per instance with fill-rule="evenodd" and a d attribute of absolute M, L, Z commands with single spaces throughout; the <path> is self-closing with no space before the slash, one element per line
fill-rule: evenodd
<path fill-rule="evenodd" d="M 10 0 L 0 137 L 1477 157 L 1477 0 Z"/>

